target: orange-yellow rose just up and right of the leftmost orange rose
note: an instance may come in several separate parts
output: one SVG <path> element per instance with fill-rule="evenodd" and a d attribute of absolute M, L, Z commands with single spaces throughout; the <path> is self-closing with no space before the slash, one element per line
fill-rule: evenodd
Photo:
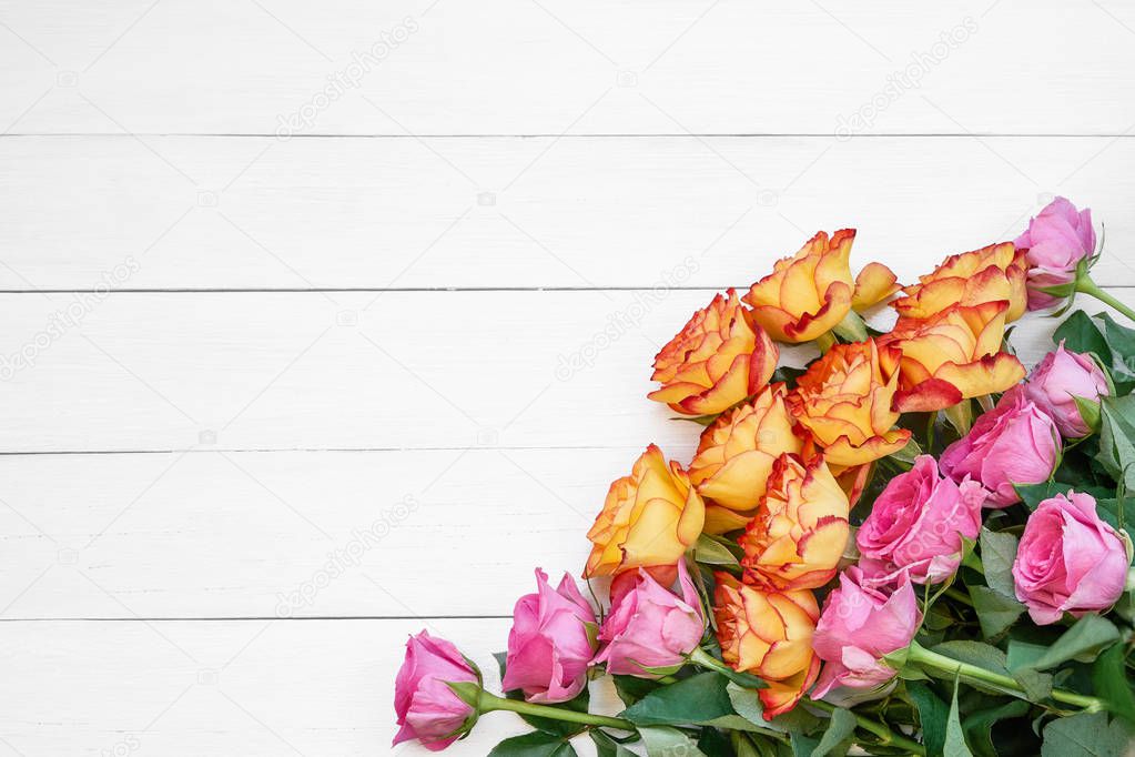
<path fill-rule="evenodd" d="M 690 481 L 709 501 L 706 530 L 724 533 L 742 528 L 765 493 L 773 462 L 782 453 L 800 453 L 792 431 L 783 384 L 762 389 L 750 402 L 723 413 L 701 432 L 690 463 Z"/>

